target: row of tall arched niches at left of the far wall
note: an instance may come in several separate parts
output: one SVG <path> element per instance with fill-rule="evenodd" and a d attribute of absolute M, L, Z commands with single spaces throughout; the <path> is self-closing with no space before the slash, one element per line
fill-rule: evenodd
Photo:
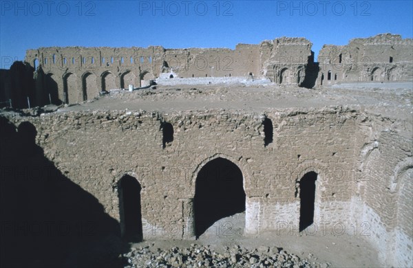
<path fill-rule="evenodd" d="M 80 78 L 72 72 L 59 77 L 56 74 L 45 74 L 45 91 L 50 94 L 53 104 L 74 103 L 92 100 L 100 91 L 125 89 L 128 85 L 142 85 L 142 80 L 151 79 L 149 71 L 144 71 L 136 78 L 133 71 L 125 71 L 120 76 L 104 71 L 96 76 L 92 71 L 86 71 Z"/>

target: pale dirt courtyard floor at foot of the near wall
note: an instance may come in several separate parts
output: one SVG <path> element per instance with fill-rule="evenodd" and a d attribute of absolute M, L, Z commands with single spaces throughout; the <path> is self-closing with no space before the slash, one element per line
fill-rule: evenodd
<path fill-rule="evenodd" d="M 214 223 L 197 241 L 144 241 L 131 247 L 170 249 L 186 248 L 192 243 L 207 246 L 216 252 L 224 253 L 225 247 L 239 245 L 245 249 L 259 247 L 281 247 L 299 258 L 307 258 L 312 263 L 328 263 L 329 267 L 384 267 L 379 263 L 377 252 L 361 237 L 343 234 L 334 236 L 326 233 L 317 235 L 289 235 L 277 232 L 263 232 L 256 236 L 244 236 L 245 214 L 235 214 Z M 228 229 L 231 223 L 231 230 Z M 220 232 L 219 230 L 226 230 Z M 305 231 L 303 232 L 305 233 Z"/>

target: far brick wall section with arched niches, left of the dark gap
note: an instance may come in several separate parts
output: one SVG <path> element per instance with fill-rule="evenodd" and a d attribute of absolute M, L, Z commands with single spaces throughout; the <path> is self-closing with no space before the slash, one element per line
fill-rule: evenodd
<path fill-rule="evenodd" d="M 39 103 L 92 100 L 100 91 L 144 87 L 156 78 L 269 78 L 303 85 L 312 62 L 310 41 L 277 38 L 235 49 L 165 49 L 163 47 L 41 47 L 26 61 L 38 69 Z M 50 95 L 50 97 L 49 97 Z"/>

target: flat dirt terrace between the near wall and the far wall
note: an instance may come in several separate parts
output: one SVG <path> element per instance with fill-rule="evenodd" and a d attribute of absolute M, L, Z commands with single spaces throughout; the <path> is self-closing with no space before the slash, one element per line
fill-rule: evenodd
<path fill-rule="evenodd" d="M 306 89 L 264 85 L 156 86 L 129 92 L 114 90 L 98 100 L 65 107 L 70 110 L 202 111 L 208 109 L 262 112 L 293 107 L 348 105 L 396 118 L 411 116 L 413 82 L 370 82 Z"/>

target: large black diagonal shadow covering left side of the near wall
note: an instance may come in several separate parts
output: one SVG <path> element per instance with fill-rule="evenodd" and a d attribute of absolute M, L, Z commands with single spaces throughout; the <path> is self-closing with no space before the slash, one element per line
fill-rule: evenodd
<path fill-rule="evenodd" d="M 118 222 L 44 156 L 36 128 L 0 117 L 0 136 L 0 267 L 123 266 Z"/>

